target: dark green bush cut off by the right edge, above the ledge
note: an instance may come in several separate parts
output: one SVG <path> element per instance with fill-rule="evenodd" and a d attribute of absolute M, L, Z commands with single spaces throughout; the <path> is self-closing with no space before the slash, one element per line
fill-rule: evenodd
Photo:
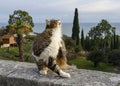
<path fill-rule="evenodd" d="M 120 66 L 120 50 L 112 50 L 108 56 L 109 63 Z"/>

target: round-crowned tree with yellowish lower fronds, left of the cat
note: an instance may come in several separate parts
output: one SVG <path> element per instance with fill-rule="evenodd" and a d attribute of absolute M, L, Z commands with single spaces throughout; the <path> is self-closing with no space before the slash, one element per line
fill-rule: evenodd
<path fill-rule="evenodd" d="M 11 34 L 17 34 L 17 44 L 19 48 L 19 58 L 23 59 L 23 35 L 28 35 L 34 27 L 32 17 L 26 11 L 15 10 L 9 16 L 7 28 Z"/>

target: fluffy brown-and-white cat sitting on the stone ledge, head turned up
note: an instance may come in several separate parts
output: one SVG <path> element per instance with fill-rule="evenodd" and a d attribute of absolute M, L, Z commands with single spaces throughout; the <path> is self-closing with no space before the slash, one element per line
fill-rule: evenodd
<path fill-rule="evenodd" d="M 59 67 L 63 62 L 60 56 L 63 51 L 61 37 L 61 22 L 59 20 L 46 20 L 46 29 L 38 34 L 32 44 L 32 55 L 41 74 L 46 75 L 47 68 L 49 68 L 61 77 L 70 78 L 70 74 Z M 66 59 L 64 60 L 66 61 Z"/>

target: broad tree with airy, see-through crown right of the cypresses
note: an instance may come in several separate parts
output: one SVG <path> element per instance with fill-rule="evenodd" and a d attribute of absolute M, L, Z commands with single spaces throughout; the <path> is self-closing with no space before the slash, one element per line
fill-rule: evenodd
<path fill-rule="evenodd" d="M 113 36 L 113 27 L 105 19 L 102 19 L 97 26 L 91 28 L 89 36 L 94 40 L 94 45 L 101 49 L 111 48 L 111 38 Z"/>

